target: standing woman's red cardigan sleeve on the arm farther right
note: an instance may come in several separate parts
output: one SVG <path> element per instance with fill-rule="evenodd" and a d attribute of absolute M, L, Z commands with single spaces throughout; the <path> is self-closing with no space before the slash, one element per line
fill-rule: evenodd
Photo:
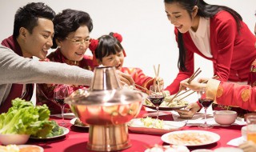
<path fill-rule="evenodd" d="M 210 22 L 210 34 L 214 34 L 216 37 L 214 39 L 218 41 L 218 46 L 211 46 L 212 54 L 215 54 L 216 60 L 214 62 L 214 75 L 218 75 L 219 80 L 226 81 L 230 75 L 238 26 L 234 17 L 226 11 L 220 11 L 214 18 L 211 18 Z"/>

